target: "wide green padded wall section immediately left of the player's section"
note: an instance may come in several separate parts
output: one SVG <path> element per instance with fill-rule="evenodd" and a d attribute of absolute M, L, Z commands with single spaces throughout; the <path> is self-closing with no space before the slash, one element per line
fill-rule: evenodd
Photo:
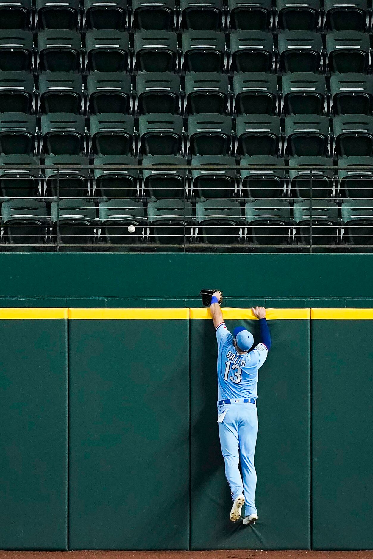
<path fill-rule="evenodd" d="M 188 316 L 70 311 L 69 549 L 188 549 Z"/>

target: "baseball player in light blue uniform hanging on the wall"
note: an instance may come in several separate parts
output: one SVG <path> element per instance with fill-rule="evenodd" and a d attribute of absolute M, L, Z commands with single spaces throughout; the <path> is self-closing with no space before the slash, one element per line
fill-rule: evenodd
<path fill-rule="evenodd" d="M 225 462 L 225 477 L 229 483 L 233 506 L 230 520 L 237 522 L 245 504 L 244 525 L 258 519 L 254 503 L 257 475 L 254 452 L 258 434 L 256 407 L 258 369 L 266 361 L 271 348 L 271 336 L 266 321 L 266 309 L 255 307 L 259 319 L 261 341 L 253 349 L 253 335 L 237 326 L 231 334 L 220 309 L 221 293 L 211 297 L 216 339 L 218 340 L 218 424 L 221 452 Z M 242 477 L 238 469 L 241 457 Z"/>

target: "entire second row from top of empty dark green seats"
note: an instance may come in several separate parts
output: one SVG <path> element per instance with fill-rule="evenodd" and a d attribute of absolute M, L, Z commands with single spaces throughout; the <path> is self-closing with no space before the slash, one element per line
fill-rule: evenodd
<path fill-rule="evenodd" d="M 370 69 L 370 35 L 334 31 L 234 31 L 226 45 L 218 31 L 0 30 L 0 70 L 36 72 L 362 72 Z M 82 39 L 84 49 L 82 48 Z M 274 40 L 276 39 L 275 44 Z M 229 46 L 229 48 L 228 48 Z"/>

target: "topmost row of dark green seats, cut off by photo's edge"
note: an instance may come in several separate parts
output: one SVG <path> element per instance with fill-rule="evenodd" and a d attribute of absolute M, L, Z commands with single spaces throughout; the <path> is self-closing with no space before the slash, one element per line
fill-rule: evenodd
<path fill-rule="evenodd" d="M 228 30 L 329 30 L 362 31 L 367 27 L 369 8 L 367 0 L 346 4 L 342 0 L 324 0 L 320 11 L 319 0 L 210 0 L 195 2 L 180 0 L 132 0 L 128 10 L 126 0 L 68 0 L 50 2 L 36 0 L 8 0 L 0 8 L 2 29 L 206 29 Z M 325 21 L 323 16 L 325 13 Z M 369 25 L 368 21 L 368 25 Z"/>

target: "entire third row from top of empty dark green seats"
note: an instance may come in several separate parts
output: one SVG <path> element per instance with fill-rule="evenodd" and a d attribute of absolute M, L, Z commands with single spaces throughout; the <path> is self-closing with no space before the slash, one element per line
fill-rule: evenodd
<path fill-rule="evenodd" d="M 93 72 L 86 78 L 87 90 L 79 74 L 46 72 L 37 78 L 35 89 L 31 74 L 0 72 L 0 113 L 371 115 L 373 110 L 373 75 L 360 73 L 333 74 L 330 92 L 325 76 L 310 72 L 283 75 L 280 88 L 274 74 L 235 74 L 233 90 L 228 75 L 217 72 L 187 73 L 185 91 L 180 77 L 169 72 L 140 73 L 135 89 L 130 75 L 121 72 Z"/>

